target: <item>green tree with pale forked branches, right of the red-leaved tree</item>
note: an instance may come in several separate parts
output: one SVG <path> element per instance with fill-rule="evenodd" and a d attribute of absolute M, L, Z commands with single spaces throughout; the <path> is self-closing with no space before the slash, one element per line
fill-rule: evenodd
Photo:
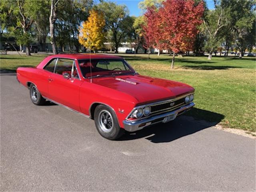
<path fill-rule="evenodd" d="M 203 31 L 206 36 L 205 48 L 209 52 L 208 59 L 212 59 L 212 52 L 220 46 L 223 38 L 220 30 L 227 25 L 224 9 L 218 6 L 215 10 L 209 10 L 203 23 Z"/>

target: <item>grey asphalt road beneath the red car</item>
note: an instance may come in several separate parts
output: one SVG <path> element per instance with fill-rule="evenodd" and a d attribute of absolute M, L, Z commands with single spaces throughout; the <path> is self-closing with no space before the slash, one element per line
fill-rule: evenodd
<path fill-rule="evenodd" d="M 187 116 L 102 138 L 1 74 L 1 191 L 255 191 L 255 140 Z M 86 99 L 86 98 L 85 98 Z"/>

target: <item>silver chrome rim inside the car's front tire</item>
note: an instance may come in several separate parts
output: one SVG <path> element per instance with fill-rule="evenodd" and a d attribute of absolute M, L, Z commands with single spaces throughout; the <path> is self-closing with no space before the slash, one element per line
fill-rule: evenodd
<path fill-rule="evenodd" d="M 111 113 L 107 110 L 102 110 L 99 114 L 98 123 L 102 131 L 106 133 L 111 132 L 114 124 Z"/>

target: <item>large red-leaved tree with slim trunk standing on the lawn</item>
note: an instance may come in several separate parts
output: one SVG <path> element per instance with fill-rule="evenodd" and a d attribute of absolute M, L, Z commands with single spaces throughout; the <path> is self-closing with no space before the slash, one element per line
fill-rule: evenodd
<path fill-rule="evenodd" d="M 202 1 L 198 5 L 195 5 L 194 0 L 163 2 L 163 7 L 159 9 L 160 25 L 158 28 L 160 28 L 161 36 L 158 38 L 164 41 L 164 44 L 173 52 L 171 68 L 174 68 L 176 52 L 193 49 L 203 13 L 204 3 Z"/>

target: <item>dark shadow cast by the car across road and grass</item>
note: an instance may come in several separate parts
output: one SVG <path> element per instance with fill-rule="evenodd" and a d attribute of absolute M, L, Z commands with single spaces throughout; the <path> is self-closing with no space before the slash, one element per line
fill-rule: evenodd
<path fill-rule="evenodd" d="M 124 141 L 145 138 L 153 143 L 171 142 L 178 138 L 194 134 L 206 128 L 215 126 L 224 118 L 224 115 L 222 114 L 217 114 L 197 108 L 194 108 L 193 110 L 199 110 L 200 112 L 198 113 L 202 113 L 203 111 L 208 114 L 210 113 L 212 116 L 214 116 L 214 120 L 216 121 L 207 122 L 193 116 L 183 115 L 166 124 L 161 123 L 148 126 L 136 132 L 126 132 L 126 134 L 124 134 L 124 136 L 122 136 L 119 140 Z"/>

